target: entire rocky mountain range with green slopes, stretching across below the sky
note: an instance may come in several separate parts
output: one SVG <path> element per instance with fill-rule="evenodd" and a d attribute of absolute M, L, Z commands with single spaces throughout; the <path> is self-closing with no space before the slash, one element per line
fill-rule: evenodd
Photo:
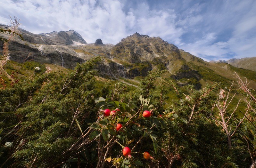
<path fill-rule="evenodd" d="M 9 28 L 7 25 L 0 25 Z M 256 87 L 256 72 L 247 69 L 255 66 L 254 58 L 230 60 L 229 64 L 244 69 L 235 68 L 226 62 L 216 64 L 207 62 L 160 37 L 150 37 L 134 33 L 114 44 L 103 44 L 101 39 L 87 44 L 76 31 L 60 31 L 43 34 L 33 34 L 20 29 L 24 41 L 18 37 L 10 42 L 10 60 L 23 62 L 34 60 L 40 63 L 51 63 L 65 68 L 75 68 L 77 63 L 83 63 L 90 58 L 100 56 L 98 63 L 99 75 L 111 78 L 135 78 L 146 76 L 150 70 L 166 70 L 163 77 L 177 80 L 181 86 L 193 84 L 197 89 L 215 82 L 225 85 L 234 80 L 234 71 L 251 81 Z M 8 34 L 1 34 L 8 37 Z M 0 54 L 3 42 L 0 42 Z M 252 69 L 253 70 L 253 69 Z M 255 69 L 254 69 L 255 70 Z"/>

